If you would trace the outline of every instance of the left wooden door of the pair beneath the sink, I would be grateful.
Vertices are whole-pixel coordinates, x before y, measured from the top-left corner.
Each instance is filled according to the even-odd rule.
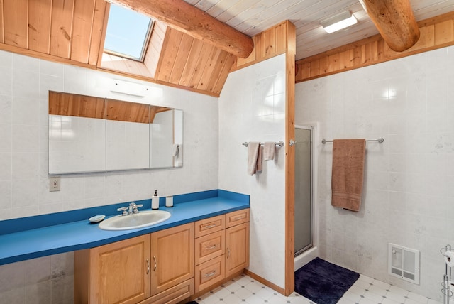
[[[150,234],[89,251],[89,302],[138,303],[150,296]]]

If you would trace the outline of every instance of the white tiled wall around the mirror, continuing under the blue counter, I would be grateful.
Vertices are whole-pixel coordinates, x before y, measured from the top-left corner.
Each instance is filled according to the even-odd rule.
[[[143,98],[109,92],[109,80],[150,86]],[[184,166],[62,175],[49,192],[48,91],[129,99],[184,112]],[[0,220],[218,188],[214,97],[0,51]],[[148,206],[150,207],[150,206]],[[72,303],[72,253],[0,266],[0,303]]]

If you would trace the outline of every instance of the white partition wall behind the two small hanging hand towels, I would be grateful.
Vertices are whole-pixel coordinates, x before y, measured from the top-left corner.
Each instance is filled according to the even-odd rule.
[[[245,141],[285,139],[285,56],[228,75],[219,97],[219,188],[250,195],[250,266],[285,286],[284,147],[262,173],[247,173]],[[186,160],[185,160],[186,162]]]

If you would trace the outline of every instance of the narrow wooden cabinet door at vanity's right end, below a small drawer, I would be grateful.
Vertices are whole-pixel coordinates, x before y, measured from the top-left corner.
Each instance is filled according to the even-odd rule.
[[[226,229],[226,277],[249,266],[249,222]]]

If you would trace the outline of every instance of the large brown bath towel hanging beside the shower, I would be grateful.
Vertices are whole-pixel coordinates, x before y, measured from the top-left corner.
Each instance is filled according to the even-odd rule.
[[[333,173],[331,205],[359,211],[364,175],[365,139],[333,141]]]

